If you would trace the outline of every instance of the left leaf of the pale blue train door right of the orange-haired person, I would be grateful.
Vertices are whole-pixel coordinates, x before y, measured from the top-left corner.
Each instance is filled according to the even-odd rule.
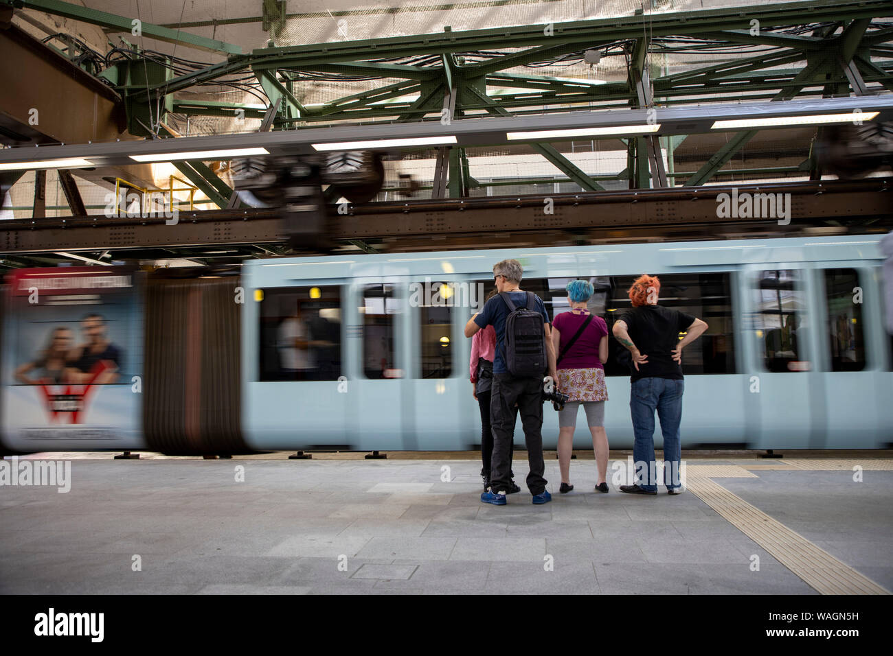
[[[823,448],[826,412],[816,366],[823,316],[812,272],[802,264],[763,264],[742,274],[747,394],[756,395],[759,407],[748,421],[757,436],[748,441],[765,449]]]

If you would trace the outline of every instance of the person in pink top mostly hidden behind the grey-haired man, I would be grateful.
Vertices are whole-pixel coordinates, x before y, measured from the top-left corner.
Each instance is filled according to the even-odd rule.
[[[486,303],[497,295],[496,289],[491,291]],[[472,380],[472,395],[478,402],[480,409],[480,477],[484,482],[484,491],[490,486],[490,461],[493,459],[493,427],[490,424],[490,393],[493,387],[493,353],[497,349],[497,333],[492,326],[479,330],[472,337],[472,358],[468,363],[470,378]],[[518,419],[518,405],[513,406],[514,417],[512,419],[512,431]],[[514,442],[514,436],[512,437]],[[514,449],[509,449],[509,477],[512,479],[507,492],[513,494],[521,492],[521,488],[514,482],[514,474],[511,471]]]

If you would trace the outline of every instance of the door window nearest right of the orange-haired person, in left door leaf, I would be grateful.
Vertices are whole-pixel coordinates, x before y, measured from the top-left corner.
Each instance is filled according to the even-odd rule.
[[[754,288],[752,329],[766,370],[808,371],[806,296],[799,270],[766,270]]]

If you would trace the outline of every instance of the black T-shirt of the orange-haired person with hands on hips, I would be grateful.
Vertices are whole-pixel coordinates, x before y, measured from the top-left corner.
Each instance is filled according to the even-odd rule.
[[[672,359],[672,350],[679,344],[679,334],[695,322],[685,312],[661,305],[640,305],[622,314],[632,343],[638,352],[648,356],[646,364],[636,366],[630,361],[630,377],[682,379],[682,368]]]

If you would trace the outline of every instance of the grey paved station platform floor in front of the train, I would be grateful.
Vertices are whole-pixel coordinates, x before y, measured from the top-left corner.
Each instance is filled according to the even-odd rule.
[[[71,490],[0,487],[2,594],[889,594],[893,458],[691,457],[686,491],[480,502],[480,457],[71,459]],[[21,459],[24,460],[24,459]],[[7,457],[6,461],[10,461]],[[21,461],[20,461],[21,462]],[[623,480],[622,482],[627,482]]]

